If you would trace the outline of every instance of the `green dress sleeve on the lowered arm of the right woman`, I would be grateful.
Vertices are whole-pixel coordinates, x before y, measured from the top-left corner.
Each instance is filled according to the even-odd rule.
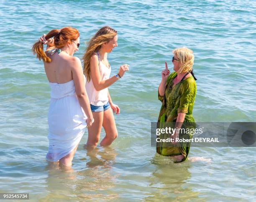
[[[192,83],[187,83],[182,86],[182,95],[179,100],[178,113],[187,113],[189,104],[195,99],[195,87]]]

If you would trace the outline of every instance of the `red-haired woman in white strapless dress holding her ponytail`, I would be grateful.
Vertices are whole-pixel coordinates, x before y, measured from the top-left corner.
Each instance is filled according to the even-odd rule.
[[[53,39],[52,39],[53,37]],[[93,123],[79,58],[79,32],[73,27],[51,30],[33,45],[33,53],[44,62],[51,87],[48,114],[49,151],[46,160],[71,166],[86,127]],[[43,44],[48,44],[44,52]]]

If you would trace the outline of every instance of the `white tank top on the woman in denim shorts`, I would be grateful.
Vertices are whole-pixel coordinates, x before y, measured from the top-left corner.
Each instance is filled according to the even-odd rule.
[[[107,80],[109,79],[111,67],[106,67],[101,61],[100,61],[100,55],[97,51],[98,59],[99,59],[99,70],[100,70],[100,78],[101,80]],[[103,106],[108,103],[108,88],[104,88],[100,91],[97,91],[93,85],[92,77],[90,79],[90,82],[85,82],[85,89],[90,101],[91,105],[95,106]]]

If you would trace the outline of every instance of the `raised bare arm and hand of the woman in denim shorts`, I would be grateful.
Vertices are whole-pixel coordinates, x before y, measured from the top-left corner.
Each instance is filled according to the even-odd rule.
[[[125,65],[122,65],[120,67],[119,73],[122,77],[125,71],[128,71],[128,67],[124,67]],[[99,70],[99,60],[97,55],[92,55],[90,60],[90,70],[91,70],[91,79],[92,83],[97,91],[100,91],[106,87],[109,87],[114,82],[118,80],[117,77],[113,76],[106,80],[101,80],[100,78],[100,70]]]

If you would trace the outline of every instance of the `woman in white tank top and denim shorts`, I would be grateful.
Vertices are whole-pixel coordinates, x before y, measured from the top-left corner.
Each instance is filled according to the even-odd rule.
[[[102,27],[92,37],[83,55],[85,88],[95,120],[88,128],[88,140],[85,146],[90,146],[90,148],[97,146],[102,126],[106,135],[100,142],[101,146],[110,145],[118,136],[113,112],[119,114],[120,108],[113,104],[108,87],[118,80],[121,82],[123,75],[129,70],[129,65],[122,65],[119,72],[110,77],[111,67],[108,62],[108,53],[118,46],[117,41],[117,31],[108,26]]]

